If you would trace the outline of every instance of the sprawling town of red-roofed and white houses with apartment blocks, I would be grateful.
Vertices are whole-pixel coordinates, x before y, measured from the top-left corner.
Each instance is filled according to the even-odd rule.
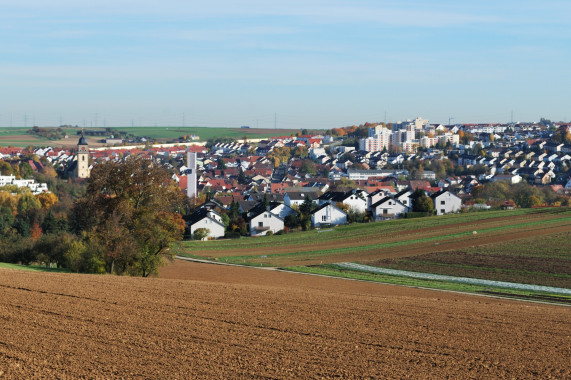
[[[0,147],[0,187],[49,192],[34,173],[89,177],[148,157],[190,198],[188,238],[262,236],[355,222],[569,204],[571,123],[430,124],[416,118],[267,139],[170,146],[78,130],[76,148]],[[35,127],[34,132],[42,132]],[[85,135],[123,146],[91,148]],[[111,136],[113,137],[113,136]],[[72,137],[71,137],[72,138]],[[144,142],[146,146],[129,146]],[[192,164],[190,163],[192,156]],[[12,170],[19,168],[19,170]],[[194,184],[194,185],[193,185]]]

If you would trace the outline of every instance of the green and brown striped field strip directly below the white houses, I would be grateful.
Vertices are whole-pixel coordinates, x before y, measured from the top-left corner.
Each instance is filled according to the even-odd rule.
[[[571,209],[520,209],[353,224],[256,239],[184,242],[182,252],[258,266],[373,262],[541,237],[571,228]]]

